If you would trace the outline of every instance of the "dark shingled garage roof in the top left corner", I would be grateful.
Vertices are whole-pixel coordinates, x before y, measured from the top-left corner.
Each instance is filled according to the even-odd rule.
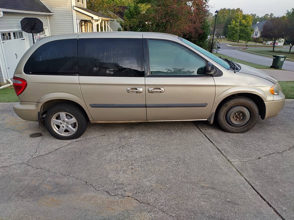
[[[0,9],[52,13],[40,0],[0,1]]]

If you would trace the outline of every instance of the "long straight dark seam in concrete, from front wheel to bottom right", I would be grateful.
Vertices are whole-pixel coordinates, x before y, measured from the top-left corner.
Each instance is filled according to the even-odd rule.
[[[240,172],[240,170],[238,170],[238,168],[237,167],[235,167],[235,165],[233,165],[233,163],[232,163],[232,161],[230,161],[228,158],[227,158],[227,156],[220,150],[220,148],[218,148],[217,146],[216,146],[216,144],[215,143],[213,143],[213,141],[198,127],[198,125],[196,124],[196,123],[194,123],[195,124],[195,126],[199,129],[199,131],[208,139],[208,141],[210,141],[210,143],[212,143],[213,144],[213,146],[225,157],[225,159],[226,160],[228,160],[228,162],[230,163],[230,165],[239,173],[239,175],[241,176],[241,177],[243,177],[244,178],[244,180],[250,185],[250,187],[259,195],[259,197],[261,198],[261,199],[263,199],[263,201],[265,201],[267,204],[268,204],[268,206],[271,208],[271,209],[273,209],[273,211],[281,218],[281,219],[283,219],[283,220],[285,220],[285,218],[278,212],[278,210],[277,209],[275,209],[275,207],[273,207],[273,205],[272,204],[270,204],[270,202],[267,200],[267,199],[265,199],[265,197],[263,197],[263,195],[262,194],[260,194],[260,192],[258,192],[258,190],[252,185],[252,183]]]

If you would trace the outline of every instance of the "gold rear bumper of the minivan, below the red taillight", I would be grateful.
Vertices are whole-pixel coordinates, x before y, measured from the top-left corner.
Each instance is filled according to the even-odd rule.
[[[26,121],[38,121],[38,111],[40,111],[42,103],[37,102],[19,102],[13,106],[14,112]]]

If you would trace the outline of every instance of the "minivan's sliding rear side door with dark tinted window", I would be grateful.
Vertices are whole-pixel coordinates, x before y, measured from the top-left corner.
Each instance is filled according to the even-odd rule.
[[[78,40],[81,92],[94,121],[146,121],[143,39]]]

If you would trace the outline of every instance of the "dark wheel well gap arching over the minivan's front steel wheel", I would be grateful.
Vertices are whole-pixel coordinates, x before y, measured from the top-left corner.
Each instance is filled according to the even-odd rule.
[[[220,102],[220,104],[218,104],[218,107],[216,108],[216,112],[218,112],[218,109],[223,104],[223,102],[227,101],[228,99],[230,99],[232,97],[246,97],[248,99],[251,99],[252,101],[254,101],[254,103],[258,107],[258,111],[259,111],[259,115],[260,115],[261,119],[264,119],[265,118],[265,111],[266,111],[266,109],[265,109],[265,104],[264,104],[263,99],[260,96],[258,96],[256,94],[252,94],[252,93],[237,93],[237,94],[233,94],[233,95],[230,95],[228,97],[225,97]]]

